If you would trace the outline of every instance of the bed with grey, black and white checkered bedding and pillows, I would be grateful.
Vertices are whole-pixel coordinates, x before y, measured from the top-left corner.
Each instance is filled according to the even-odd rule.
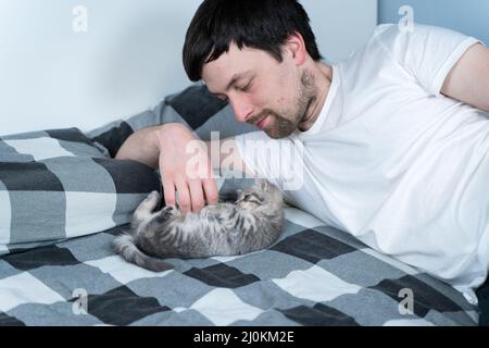
[[[478,324],[478,308],[449,285],[290,206],[267,250],[170,259],[163,273],[123,261],[111,241],[161,184],[158,172],[113,157],[134,132],[172,122],[202,139],[255,130],[195,85],[91,132],[0,138],[0,325]],[[240,185],[224,178],[221,194]]]

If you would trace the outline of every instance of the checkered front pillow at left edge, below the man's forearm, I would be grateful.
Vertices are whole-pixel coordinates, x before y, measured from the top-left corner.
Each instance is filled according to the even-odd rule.
[[[0,251],[130,222],[160,178],[104,152],[77,128],[0,138]]]

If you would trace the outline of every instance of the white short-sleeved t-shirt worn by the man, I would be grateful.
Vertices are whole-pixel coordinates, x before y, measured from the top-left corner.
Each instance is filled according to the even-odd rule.
[[[289,203],[477,303],[473,289],[489,265],[489,120],[440,94],[476,42],[439,27],[379,25],[333,66],[310,130],[238,136],[239,152]]]

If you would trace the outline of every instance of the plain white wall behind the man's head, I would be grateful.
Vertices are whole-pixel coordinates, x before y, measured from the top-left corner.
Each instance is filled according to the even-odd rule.
[[[185,33],[200,0],[0,0],[0,135],[89,130],[189,85]],[[376,24],[376,0],[303,0],[335,62]],[[87,9],[87,32],[76,33]],[[83,23],[82,23],[83,24]],[[79,28],[79,26],[78,26]]]

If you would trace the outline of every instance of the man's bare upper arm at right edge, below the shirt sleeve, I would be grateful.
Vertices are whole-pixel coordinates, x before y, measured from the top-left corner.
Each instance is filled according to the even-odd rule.
[[[489,112],[489,48],[472,46],[451,70],[441,92]]]

